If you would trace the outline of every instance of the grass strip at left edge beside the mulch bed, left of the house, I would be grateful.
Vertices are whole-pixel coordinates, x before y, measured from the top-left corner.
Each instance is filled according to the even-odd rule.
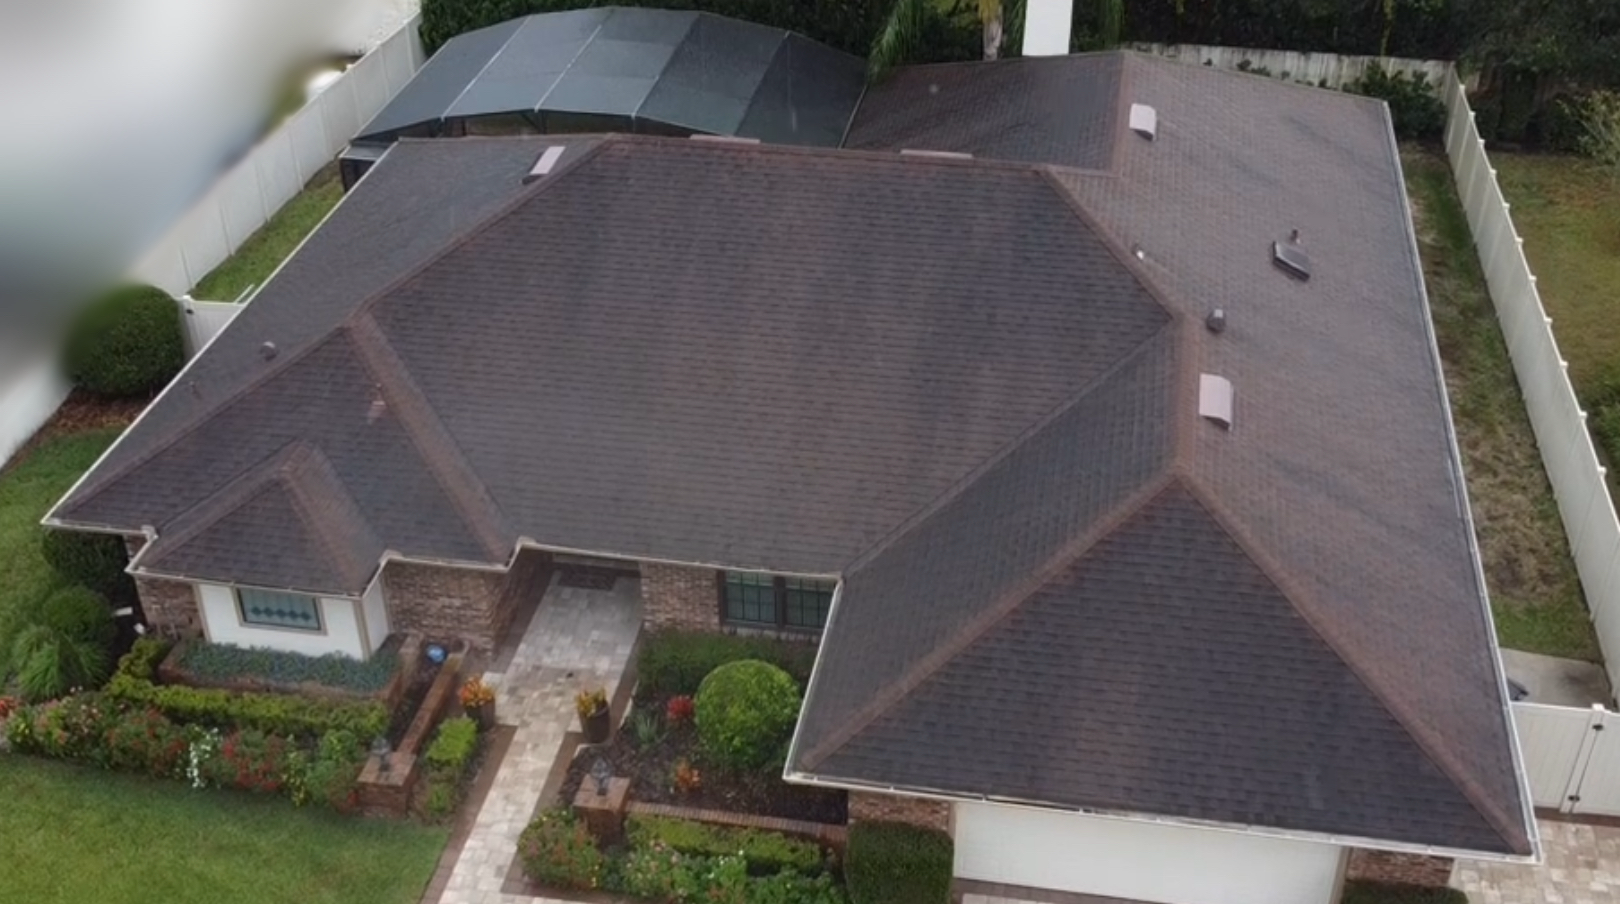
[[[39,554],[39,518],[120,433],[96,429],[50,439],[0,475],[0,609],[57,586],[60,578]]]

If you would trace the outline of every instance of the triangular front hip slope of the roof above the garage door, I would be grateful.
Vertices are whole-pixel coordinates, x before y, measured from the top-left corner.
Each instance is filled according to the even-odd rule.
[[[1520,852],[1181,480],[813,771]]]

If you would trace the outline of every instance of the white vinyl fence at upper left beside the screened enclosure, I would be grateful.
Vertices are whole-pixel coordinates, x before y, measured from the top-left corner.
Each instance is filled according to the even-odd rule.
[[[420,21],[400,26],[254,146],[157,240],[131,279],[178,296],[237,251],[416,75]]]

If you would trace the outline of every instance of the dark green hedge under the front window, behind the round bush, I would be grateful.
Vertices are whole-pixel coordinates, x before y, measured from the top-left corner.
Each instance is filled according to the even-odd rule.
[[[766,637],[659,632],[642,643],[635,661],[637,698],[642,701],[693,695],[710,672],[726,663],[760,659],[804,687],[815,664],[815,645]]]

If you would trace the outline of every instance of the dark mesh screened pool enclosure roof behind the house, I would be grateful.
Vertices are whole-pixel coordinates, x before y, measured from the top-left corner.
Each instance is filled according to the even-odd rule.
[[[544,13],[452,39],[356,141],[522,113],[567,115],[598,130],[831,147],[860,100],[863,71],[859,57],[710,13],[620,6]]]

